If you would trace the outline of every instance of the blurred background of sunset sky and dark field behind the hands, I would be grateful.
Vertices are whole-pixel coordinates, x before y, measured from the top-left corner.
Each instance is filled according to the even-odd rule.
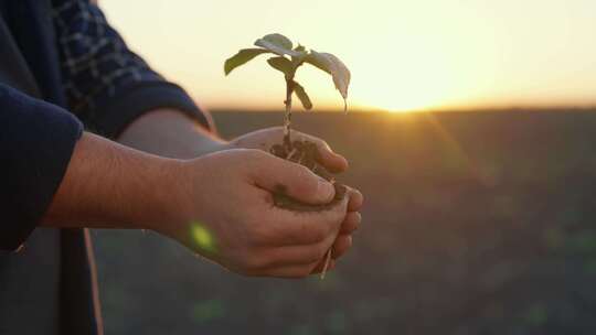
[[[596,3],[100,0],[132,50],[232,138],[279,126],[284,80],[223,62],[267,33],[352,71],[343,115],[301,68],[366,202],[324,280],[231,274],[151,233],[95,230],[107,334],[596,332]]]

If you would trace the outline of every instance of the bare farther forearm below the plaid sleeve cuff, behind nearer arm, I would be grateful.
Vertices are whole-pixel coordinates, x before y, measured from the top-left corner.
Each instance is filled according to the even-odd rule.
[[[193,159],[222,150],[225,141],[190,117],[171,109],[157,109],[135,120],[118,142],[166,158]]]

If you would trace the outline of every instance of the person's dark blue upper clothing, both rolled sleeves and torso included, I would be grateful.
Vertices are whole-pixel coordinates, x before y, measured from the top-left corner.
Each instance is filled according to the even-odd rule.
[[[88,231],[36,228],[76,141],[160,107],[210,120],[88,1],[0,0],[0,334],[98,334]]]

